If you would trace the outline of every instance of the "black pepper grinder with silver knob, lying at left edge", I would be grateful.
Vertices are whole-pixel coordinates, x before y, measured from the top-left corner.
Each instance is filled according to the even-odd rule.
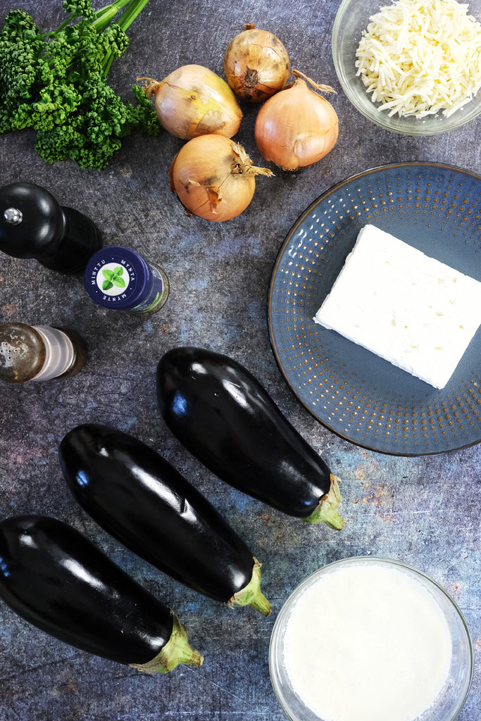
[[[15,258],[36,258],[58,273],[83,273],[102,247],[100,231],[83,213],[58,204],[31,182],[0,188],[0,250]]]

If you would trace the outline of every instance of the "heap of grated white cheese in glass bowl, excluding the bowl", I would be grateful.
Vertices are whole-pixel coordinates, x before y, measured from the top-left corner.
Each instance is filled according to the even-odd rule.
[[[397,0],[370,18],[356,75],[378,110],[449,117],[481,88],[481,25],[456,0]]]

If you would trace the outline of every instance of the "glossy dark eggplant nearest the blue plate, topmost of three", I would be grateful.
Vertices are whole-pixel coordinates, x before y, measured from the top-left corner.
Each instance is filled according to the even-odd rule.
[[[240,363],[173,348],[156,390],[169,429],[219,478],[290,516],[343,528],[339,479]]]

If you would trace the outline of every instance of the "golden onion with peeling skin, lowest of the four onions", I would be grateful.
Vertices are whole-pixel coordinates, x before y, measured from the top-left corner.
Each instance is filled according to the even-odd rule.
[[[189,214],[228,221],[249,205],[259,174],[273,173],[252,165],[239,143],[220,135],[199,136],[185,143],[172,161],[170,189]]]

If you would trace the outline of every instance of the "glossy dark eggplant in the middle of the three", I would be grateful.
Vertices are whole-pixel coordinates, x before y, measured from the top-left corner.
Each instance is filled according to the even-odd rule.
[[[206,497],[152,448],[90,423],[66,434],[58,457],[77,502],[125,547],[204,596],[270,614],[260,563]]]

